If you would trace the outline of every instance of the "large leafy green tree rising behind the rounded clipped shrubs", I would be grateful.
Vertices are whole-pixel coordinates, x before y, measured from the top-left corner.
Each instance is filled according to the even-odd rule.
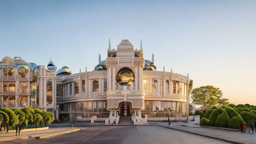
[[[201,86],[191,91],[192,104],[202,105],[206,110],[221,102],[221,97],[221,90],[213,86]]]

